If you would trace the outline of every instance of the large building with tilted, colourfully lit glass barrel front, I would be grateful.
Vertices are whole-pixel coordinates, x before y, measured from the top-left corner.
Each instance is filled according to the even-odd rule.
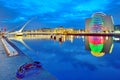
[[[97,12],[86,19],[85,30],[87,32],[114,31],[113,24],[112,16]]]

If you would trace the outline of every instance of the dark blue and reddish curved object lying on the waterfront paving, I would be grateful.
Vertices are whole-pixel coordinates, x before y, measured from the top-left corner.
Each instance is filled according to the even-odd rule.
[[[26,63],[26,64],[20,66],[20,68],[17,70],[16,77],[19,79],[22,79],[25,77],[26,73],[29,73],[30,71],[35,73],[36,71],[38,71],[41,68],[42,68],[42,66],[41,66],[40,62],[34,61],[31,63]]]

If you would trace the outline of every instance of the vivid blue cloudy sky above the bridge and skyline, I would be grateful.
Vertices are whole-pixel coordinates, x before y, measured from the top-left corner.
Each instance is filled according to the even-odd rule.
[[[0,0],[0,27],[20,28],[32,19],[27,28],[65,26],[84,29],[85,18],[95,12],[112,15],[120,24],[119,0]]]

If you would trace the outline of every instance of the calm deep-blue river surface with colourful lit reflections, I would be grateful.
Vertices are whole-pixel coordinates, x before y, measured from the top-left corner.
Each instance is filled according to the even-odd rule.
[[[120,43],[110,37],[42,36],[11,40],[58,80],[120,80]],[[95,48],[96,45],[101,48]],[[90,50],[100,49],[105,52],[101,57],[91,54]]]

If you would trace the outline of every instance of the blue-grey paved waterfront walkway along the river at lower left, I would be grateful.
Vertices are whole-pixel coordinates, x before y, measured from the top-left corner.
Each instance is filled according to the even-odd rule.
[[[27,76],[23,79],[16,78],[17,69],[32,59],[19,53],[17,56],[7,56],[0,37],[0,80],[56,80],[49,72],[44,69],[37,74]]]

